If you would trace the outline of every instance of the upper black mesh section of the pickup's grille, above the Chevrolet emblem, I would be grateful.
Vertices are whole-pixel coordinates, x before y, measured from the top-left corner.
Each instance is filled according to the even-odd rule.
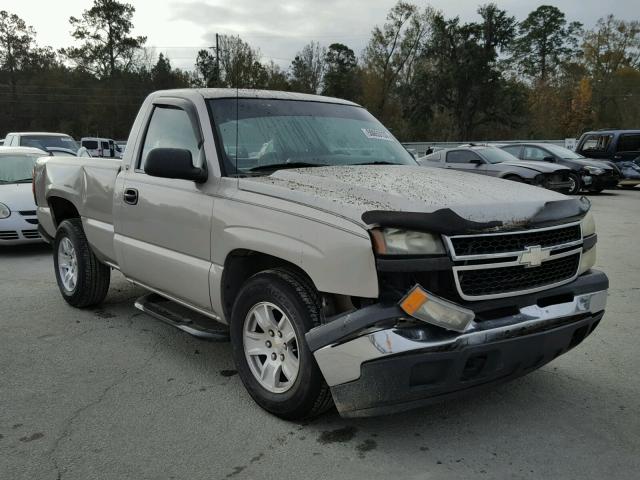
[[[580,225],[524,233],[452,237],[457,257],[519,252],[528,246],[551,247],[582,240]]]

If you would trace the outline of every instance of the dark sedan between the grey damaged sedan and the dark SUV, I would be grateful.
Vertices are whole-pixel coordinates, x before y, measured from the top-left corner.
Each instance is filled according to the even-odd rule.
[[[547,162],[571,169],[571,195],[576,195],[581,190],[601,192],[616,188],[620,180],[618,169],[607,162],[585,158],[568,148],[552,143],[517,143],[503,145],[500,148],[527,162]]]

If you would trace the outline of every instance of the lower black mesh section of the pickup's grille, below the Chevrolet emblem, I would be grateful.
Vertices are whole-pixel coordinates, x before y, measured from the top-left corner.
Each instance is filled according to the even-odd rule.
[[[531,290],[570,280],[580,264],[580,254],[544,262],[540,267],[513,266],[465,270],[458,275],[460,289],[467,297]]]

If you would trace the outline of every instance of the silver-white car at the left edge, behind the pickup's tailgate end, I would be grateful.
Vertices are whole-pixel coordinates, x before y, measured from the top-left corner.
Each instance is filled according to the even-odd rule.
[[[0,147],[0,246],[42,241],[31,188],[42,156],[37,148]]]

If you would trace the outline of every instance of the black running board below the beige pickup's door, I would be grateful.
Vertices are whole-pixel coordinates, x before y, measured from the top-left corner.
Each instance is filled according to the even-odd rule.
[[[195,337],[217,341],[229,340],[229,329],[226,325],[156,293],[138,298],[135,307]]]

